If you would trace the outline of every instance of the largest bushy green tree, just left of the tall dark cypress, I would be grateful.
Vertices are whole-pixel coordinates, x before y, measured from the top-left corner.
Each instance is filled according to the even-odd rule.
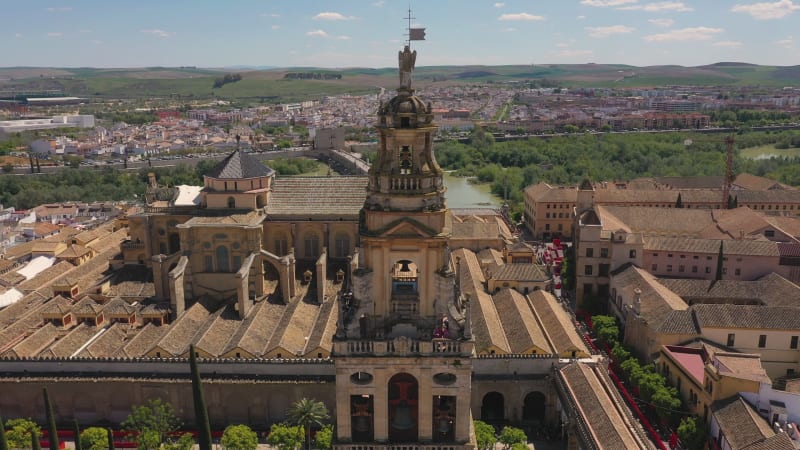
[[[144,405],[134,406],[128,418],[122,422],[125,430],[138,433],[136,441],[140,446],[147,444],[145,448],[165,443],[167,434],[180,426],[181,421],[175,415],[175,409],[161,399],[150,399]]]

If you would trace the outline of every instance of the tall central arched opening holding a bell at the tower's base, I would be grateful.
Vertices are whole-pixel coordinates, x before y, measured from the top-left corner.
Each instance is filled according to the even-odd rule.
[[[389,440],[414,442],[419,429],[419,384],[413,375],[398,373],[389,379]]]

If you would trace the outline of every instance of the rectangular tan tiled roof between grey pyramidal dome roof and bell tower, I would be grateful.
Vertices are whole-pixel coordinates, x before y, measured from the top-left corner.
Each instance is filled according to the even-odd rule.
[[[267,218],[336,216],[357,218],[366,198],[367,177],[278,177]]]

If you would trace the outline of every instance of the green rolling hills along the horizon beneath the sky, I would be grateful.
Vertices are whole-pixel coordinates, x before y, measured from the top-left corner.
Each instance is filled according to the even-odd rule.
[[[0,68],[0,90],[58,89],[96,98],[157,96],[292,101],[343,93],[364,94],[397,85],[397,69],[321,69],[292,67],[241,71],[242,80],[212,88],[221,69],[195,67]],[[297,73],[335,73],[336,77],[298,77]],[[564,87],[650,87],[681,85],[800,86],[800,66],[759,66],[742,62],[636,67],[621,64],[542,64],[505,66],[424,66],[414,74],[418,86],[477,82],[546,81]]]

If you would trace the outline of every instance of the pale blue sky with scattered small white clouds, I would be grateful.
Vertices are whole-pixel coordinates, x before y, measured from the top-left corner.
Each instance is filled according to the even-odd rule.
[[[0,66],[397,64],[407,0],[1,0]],[[800,0],[424,0],[418,66],[800,64]]]

